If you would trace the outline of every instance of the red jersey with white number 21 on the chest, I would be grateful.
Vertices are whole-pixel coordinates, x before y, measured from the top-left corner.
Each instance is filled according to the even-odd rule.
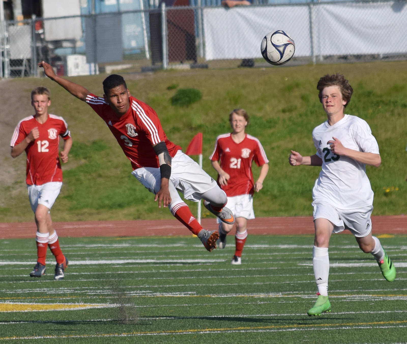
[[[232,139],[232,134],[219,135],[216,139],[215,149],[210,156],[212,161],[221,161],[223,171],[229,174],[228,185],[218,185],[229,197],[254,194],[254,179],[252,173],[252,161],[257,166],[268,163],[266,153],[260,141],[251,135],[237,144]]]

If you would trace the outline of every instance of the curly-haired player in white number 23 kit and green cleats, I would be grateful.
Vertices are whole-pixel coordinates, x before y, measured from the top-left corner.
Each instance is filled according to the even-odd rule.
[[[325,75],[317,84],[319,101],[328,120],[317,126],[312,137],[317,152],[302,157],[291,150],[292,166],[322,166],[313,188],[315,240],[313,266],[318,298],[308,311],[309,316],[329,312],[328,245],[332,233],[348,229],[361,250],[371,253],[389,282],[396,278],[396,268],[372,236],[370,214],[373,210],[373,191],[365,165],[379,167],[379,146],[369,125],[359,117],[345,115],[353,89],[341,74]]]

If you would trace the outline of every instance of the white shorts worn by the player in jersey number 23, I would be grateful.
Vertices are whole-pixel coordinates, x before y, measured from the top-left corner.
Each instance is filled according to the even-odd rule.
[[[314,221],[324,218],[333,223],[333,233],[340,233],[345,229],[355,237],[365,237],[372,231],[372,221],[370,215],[373,206],[354,210],[342,210],[326,203],[312,203],[314,207]]]

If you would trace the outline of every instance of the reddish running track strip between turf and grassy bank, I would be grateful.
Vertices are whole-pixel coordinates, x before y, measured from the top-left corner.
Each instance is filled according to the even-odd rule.
[[[214,219],[202,219],[205,229],[217,229]],[[177,220],[54,222],[60,237],[133,237],[150,235],[190,235]],[[249,234],[313,234],[309,217],[256,218],[247,224]],[[373,234],[407,234],[407,216],[372,216]],[[34,222],[0,223],[0,239],[34,238]],[[234,231],[232,231],[234,233]],[[343,233],[349,233],[344,231]]]

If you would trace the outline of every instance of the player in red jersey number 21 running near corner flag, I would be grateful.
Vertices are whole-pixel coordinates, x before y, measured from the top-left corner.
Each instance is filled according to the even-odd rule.
[[[218,184],[228,196],[228,207],[236,219],[236,251],[232,264],[241,264],[243,246],[247,237],[247,220],[254,219],[253,194],[263,188],[269,170],[269,161],[260,141],[245,133],[249,117],[245,110],[234,109],[229,115],[233,132],[219,135],[210,156],[218,172]],[[252,161],[261,166],[260,176],[254,183]],[[221,161],[220,165],[218,161]],[[226,235],[233,225],[219,223],[219,247],[226,245]]]

